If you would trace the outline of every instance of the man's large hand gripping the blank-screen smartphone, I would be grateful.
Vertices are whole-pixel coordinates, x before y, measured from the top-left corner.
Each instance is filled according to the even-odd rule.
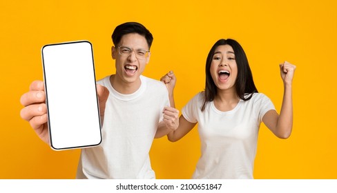
[[[103,124],[104,110],[109,92],[104,86],[97,85],[97,94],[99,96],[99,113]],[[20,112],[21,118],[29,121],[30,126],[35,130],[39,138],[49,144],[44,82],[33,81],[30,84],[30,90],[21,96],[20,102],[24,106]]]

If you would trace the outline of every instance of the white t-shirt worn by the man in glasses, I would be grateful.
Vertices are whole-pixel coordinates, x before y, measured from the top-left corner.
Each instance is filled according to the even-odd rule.
[[[78,179],[155,179],[148,155],[162,110],[169,106],[165,85],[141,76],[133,94],[120,94],[110,76],[97,83],[110,91],[104,114],[102,143],[81,150]]]

